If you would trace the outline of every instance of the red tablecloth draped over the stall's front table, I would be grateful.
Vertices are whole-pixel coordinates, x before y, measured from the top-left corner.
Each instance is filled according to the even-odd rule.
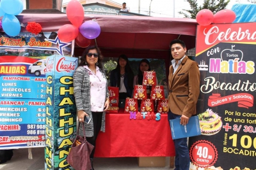
[[[130,120],[129,113],[106,113],[106,132],[97,138],[95,157],[175,156],[167,114],[161,120]]]

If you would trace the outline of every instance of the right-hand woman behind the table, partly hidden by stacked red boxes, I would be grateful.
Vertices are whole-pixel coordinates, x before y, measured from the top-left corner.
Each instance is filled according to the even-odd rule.
[[[139,69],[138,69],[138,75],[134,76],[134,80],[133,80],[133,87],[134,85],[142,85],[142,81],[143,81],[143,75],[145,71],[150,71],[151,67],[149,64],[149,61],[147,59],[142,59],[140,60],[140,64],[139,64]],[[156,85],[157,85],[157,79],[156,79]],[[147,86],[147,98],[150,98],[150,93],[151,93],[151,87]]]

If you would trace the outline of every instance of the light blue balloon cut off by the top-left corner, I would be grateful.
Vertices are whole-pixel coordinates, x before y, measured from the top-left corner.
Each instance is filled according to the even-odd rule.
[[[1,0],[2,10],[10,15],[19,13],[21,6],[23,6],[21,0]]]

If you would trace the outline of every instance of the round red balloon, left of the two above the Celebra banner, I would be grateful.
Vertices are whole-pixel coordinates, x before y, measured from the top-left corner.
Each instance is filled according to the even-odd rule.
[[[210,25],[212,23],[212,20],[213,20],[213,13],[210,10],[207,10],[207,9],[200,10],[196,14],[196,22],[199,25],[202,25],[202,26]]]

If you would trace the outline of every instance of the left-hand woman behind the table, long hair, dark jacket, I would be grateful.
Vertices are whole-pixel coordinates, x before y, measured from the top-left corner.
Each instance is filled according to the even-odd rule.
[[[117,66],[110,73],[110,86],[119,87],[119,108],[124,108],[126,97],[132,97],[132,80],[134,74],[128,58],[122,54],[118,57]]]

